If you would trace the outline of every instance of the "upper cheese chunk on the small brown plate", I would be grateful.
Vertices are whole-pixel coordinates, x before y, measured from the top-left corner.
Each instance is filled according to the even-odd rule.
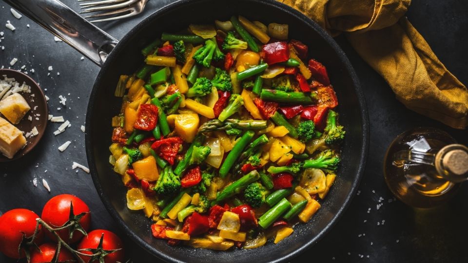
[[[31,110],[26,100],[18,93],[9,95],[0,101],[0,113],[11,123],[18,124],[24,115]]]

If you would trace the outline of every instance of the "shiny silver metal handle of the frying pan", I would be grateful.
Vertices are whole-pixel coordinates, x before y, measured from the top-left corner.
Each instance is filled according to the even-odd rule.
[[[118,42],[116,38],[86,21],[59,0],[4,1],[100,67]]]

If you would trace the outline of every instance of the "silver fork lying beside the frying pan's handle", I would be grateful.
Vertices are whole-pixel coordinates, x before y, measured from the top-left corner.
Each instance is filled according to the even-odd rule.
[[[81,1],[89,1],[89,0],[78,0],[78,1],[81,2]],[[92,19],[92,18],[112,16],[110,18],[92,20],[90,21],[92,23],[124,19],[124,18],[136,16],[140,14],[141,12],[143,12],[145,5],[148,1],[149,0],[98,0],[98,1],[93,1],[93,2],[80,3],[81,8],[84,9],[80,13],[84,14],[84,13],[117,9],[117,10],[113,10],[113,11],[109,11],[105,13],[98,13],[95,15],[86,16],[84,18]],[[118,16],[114,16],[114,15],[118,15]]]

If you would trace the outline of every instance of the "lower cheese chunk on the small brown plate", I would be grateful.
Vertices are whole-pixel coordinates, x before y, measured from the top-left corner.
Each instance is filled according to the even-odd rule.
[[[13,158],[15,153],[26,144],[23,133],[0,117],[0,151],[8,158]]]

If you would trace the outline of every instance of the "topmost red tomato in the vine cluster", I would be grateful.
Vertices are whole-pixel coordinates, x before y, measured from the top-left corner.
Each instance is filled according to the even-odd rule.
[[[83,202],[83,200],[71,194],[60,194],[52,197],[49,201],[47,201],[47,203],[44,205],[44,208],[42,208],[42,220],[44,220],[45,223],[52,227],[64,225],[67,223],[70,216],[70,203],[73,203],[74,215],[88,212],[79,220],[81,227],[83,227],[85,231],[88,231],[89,226],[91,225],[91,214],[89,213],[89,207]],[[66,243],[76,243],[81,238],[83,238],[82,233],[75,231],[73,232],[73,238],[70,241],[69,232],[70,231],[68,229],[62,229],[58,232],[60,238]],[[46,234],[52,240],[57,242],[56,237],[52,233],[46,231]]]

